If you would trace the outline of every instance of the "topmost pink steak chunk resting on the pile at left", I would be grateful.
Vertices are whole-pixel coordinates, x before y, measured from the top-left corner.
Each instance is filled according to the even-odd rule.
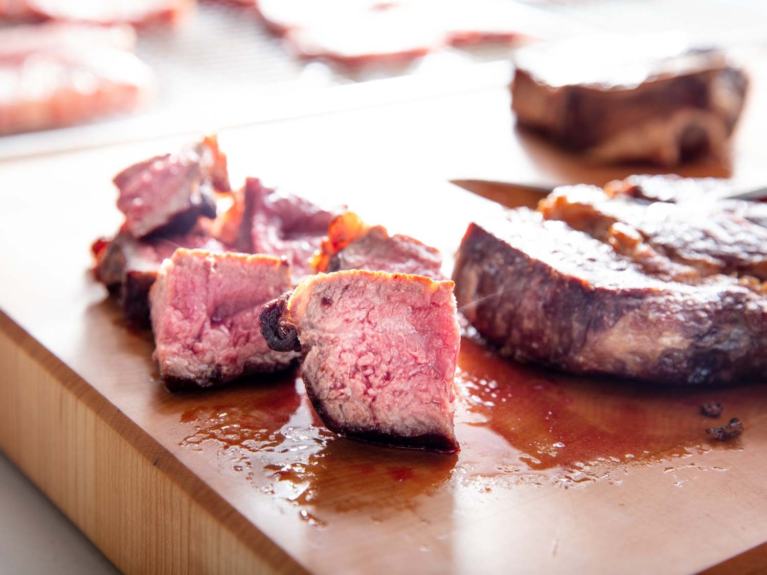
[[[137,238],[183,233],[199,216],[216,217],[216,189],[229,189],[225,156],[215,137],[185,146],[179,153],[154,156],[114,176],[117,207],[125,214],[123,232]]]

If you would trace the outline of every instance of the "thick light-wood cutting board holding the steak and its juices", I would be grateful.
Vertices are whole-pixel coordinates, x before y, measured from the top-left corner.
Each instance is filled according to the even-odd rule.
[[[630,171],[549,169],[571,160],[515,133],[508,104],[505,90],[479,90],[227,130],[221,145],[234,182],[262,176],[345,202],[449,259],[469,220],[499,206],[448,177],[508,169],[522,181],[600,181]],[[749,133],[759,130],[743,126]],[[767,385],[575,378],[465,339],[456,455],[337,439],[295,376],[166,392],[150,333],[123,326],[87,268],[91,241],[120,223],[111,176],[184,140],[0,164],[0,446],[121,570],[767,565]],[[690,170],[747,179],[749,166],[765,165],[759,147],[736,154],[733,166]],[[724,404],[721,419],[700,415],[709,400]],[[746,425],[741,438],[707,439],[706,427],[732,416]]]

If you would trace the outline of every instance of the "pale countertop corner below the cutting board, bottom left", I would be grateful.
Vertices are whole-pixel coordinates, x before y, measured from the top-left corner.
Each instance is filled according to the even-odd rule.
[[[0,572],[119,573],[0,451]]]

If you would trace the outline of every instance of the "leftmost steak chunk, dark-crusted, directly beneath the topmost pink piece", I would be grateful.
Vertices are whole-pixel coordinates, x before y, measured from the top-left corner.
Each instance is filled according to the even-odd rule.
[[[205,235],[153,236],[136,239],[118,234],[94,244],[96,279],[107,286],[123,307],[126,320],[137,327],[149,325],[149,290],[165,258],[176,248],[225,251],[221,242]]]

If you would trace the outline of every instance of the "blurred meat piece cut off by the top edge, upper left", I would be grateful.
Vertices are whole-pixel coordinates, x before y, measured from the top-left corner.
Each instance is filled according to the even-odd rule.
[[[193,0],[25,0],[43,18],[92,24],[173,25],[193,7]]]

